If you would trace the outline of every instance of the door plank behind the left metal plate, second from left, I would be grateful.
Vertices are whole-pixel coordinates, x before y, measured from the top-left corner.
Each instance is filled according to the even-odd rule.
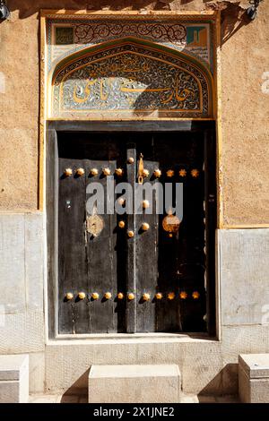
[[[114,174],[116,167],[115,159],[87,160],[86,174],[91,173],[91,168],[97,168],[100,175],[97,177],[88,176],[87,186],[91,185],[91,183],[98,183],[102,186],[104,197],[106,198],[108,194],[107,177],[102,176],[102,168],[110,168],[111,174]],[[88,194],[86,194],[86,199],[88,199]],[[115,214],[108,214],[106,209],[103,214],[99,215],[99,218],[100,223],[103,224],[100,234],[95,236],[91,232],[86,232],[88,290],[92,293],[97,293],[100,297],[99,299],[90,298],[89,331],[92,333],[117,331],[116,303],[104,297],[106,292],[110,292],[112,296],[117,295],[117,251],[116,236],[113,234],[117,225],[117,218]],[[90,221],[91,215],[86,210],[87,219]],[[93,223],[95,224],[95,222]],[[94,231],[94,227],[91,229]]]

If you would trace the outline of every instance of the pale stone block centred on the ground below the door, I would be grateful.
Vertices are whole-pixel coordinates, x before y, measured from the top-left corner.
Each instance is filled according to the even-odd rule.
[[[89,403],[177,403],[178,365],[91,365]]]

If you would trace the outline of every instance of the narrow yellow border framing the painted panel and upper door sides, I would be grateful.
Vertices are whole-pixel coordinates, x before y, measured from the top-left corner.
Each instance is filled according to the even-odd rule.
[[[143,120],[214,120],[216,124],[216,136],[217,136],[217,184],[219,185],[217,189],[217,202],[218,202],[218,227],[222,228],[223,225],[223,210],[222,210],[222,194],[221,194],[221,67],[220,67],[220,53],[221,53],[221,14],[219,11],[203,11],[203,12],[190,12],[190,11],[84,11],[84,10],[41,10],[40,11],[40,111],[39,111],[39,210],[44,209],[44,198],[45,198],[45,183],[44,183],[44,168],[45,168],[45,142],[47,136],[47,124],[49,121],[54,120],[63,120],[61,117],[54,117],[48,114],[48,103],[51,95],[51,81],[52,74],[57,71],[60,66],[60,63],[65,63],[65,55],[62,56],[62,59],[58,63],[51,63],[54,66],[52,69],[51,65],[48,65],[49,62],[49,53],[48,53],[48,43],[49,43],[49,34],[48,34],[48,21],[57,20],[57,21],[94,21],[94,20],[114,20],[114,19],[124,19],[129,20],[144,20],[145,18],[154,19],[157,21],[171,21],[171,22],[211,22],[212,28],[212,63],[209,68],[206,68],[204,65],[204,73],[210,72],[209,81],[213,85],[212,91],[212,116],[210,118],[205,118],[199,116],[196,118],[193,117],[158,117],[154,118],[152,116],[143,116],[137,119]],[[79,53],[77,48],[77,52]],[[75,51],[74,51],[75,55]],[[68,54],[69,56],[69,54]],[[184,58],[184,53],[181,52],[181,57]],[[188,56],[188,60],[192,60],[193,56]],[[197,60],[196,65],[201,68],[201,65]],[[201,61],[203,66],[203,63]],[[207,74],[208,75],[208,74]],[[83,120],[84,118],[77,118]],[[65,120],[74,120],[74,116],[65,117]],[[94,117],[94,120],[99,120]],[[100,121],[100,120],[99,120]]]

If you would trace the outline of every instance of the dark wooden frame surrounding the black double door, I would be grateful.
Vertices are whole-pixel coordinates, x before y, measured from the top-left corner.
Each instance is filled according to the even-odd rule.
[[[216,124],[215,121],[196,120],[159,120],[159,121],[64,121],[52,120],[47,122],[46,142],[46,214],[47,214],[47,260],[48,260],[48,338],[63,339],[66,335],[58,333],[58,132],[203,132],[204,133],[204,165],[205,165],[205,233],[206,233],[206,308],[207,308],[207,334],[215,337],[217,326],[217,288],[216,288],[216,259],[215,259],[215,230],[217,228],[216,212]],[[211,226],[209,228],[209,225]],[[184,333],[186,335],[186,332]],[[126,334],[114,333],[121,337]],[[143,335],[147,335],[146,333]],[[182,335],[178,332],[176,335]],[[191,333],[195,336],[194,333]],[[198,334],[199,336],[201,333]],[[72,339],[82,337],[93,338],[95,334],[67,335]],[[108,334],[106,335],[108,336]],[[111,336],[111,335],[110,335]],[[141,336],[141,334],[140,334]],[[154,333],[155,337],[163,336]],[[175,333],[173,334],[173,337]],[[103,337],[103,335],[102,335]]]

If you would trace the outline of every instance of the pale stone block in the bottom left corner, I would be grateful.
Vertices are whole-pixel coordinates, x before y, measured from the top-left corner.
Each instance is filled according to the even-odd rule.
[[[0,403],[26,403],[28,399],[28,355],[0,356]]]

